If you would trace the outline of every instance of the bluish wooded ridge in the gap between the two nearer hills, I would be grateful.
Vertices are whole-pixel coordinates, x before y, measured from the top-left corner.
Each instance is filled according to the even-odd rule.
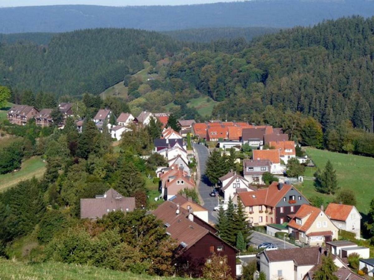
[[[239,37],[251,41],[255,37],[278,31],[279,28],[271,27],[217,27],[164,31],[163,34],[181,41],[209,43],[220,39]]]

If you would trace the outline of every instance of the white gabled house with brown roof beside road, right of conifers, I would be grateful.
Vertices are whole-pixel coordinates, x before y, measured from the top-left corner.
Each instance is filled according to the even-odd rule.
[[[229,202],[230,197],[233,198],[239,192],[252,192],[255,189],[249,186],[249,182],[236,171],[230,171],[226,175],[218,178],[220,192],[223,193],[224,203]]]

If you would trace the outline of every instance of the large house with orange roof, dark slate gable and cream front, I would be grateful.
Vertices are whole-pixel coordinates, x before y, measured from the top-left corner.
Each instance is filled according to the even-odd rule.
[[[239,198],[239,199],[238,199]],[[289,215],[309,204],[309,201],[292,185],[273,182],[266,189],[238,192],[234,203],[243,203],[249,224],[283,224]]]

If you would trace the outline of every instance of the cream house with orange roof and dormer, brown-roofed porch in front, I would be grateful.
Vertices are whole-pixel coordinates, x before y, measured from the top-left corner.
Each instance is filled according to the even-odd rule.
[[[316,246],[338,239],[339,229],[323,209],[304,204],[290,217],[288,233],[301,243]]]

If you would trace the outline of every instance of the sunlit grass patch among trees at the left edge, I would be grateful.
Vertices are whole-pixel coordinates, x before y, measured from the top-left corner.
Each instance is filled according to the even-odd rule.
[[[16,185],[19,181],[43,176],[46,167],[40,156],[22,162],[21,170],[0,175],[0,192]]]

